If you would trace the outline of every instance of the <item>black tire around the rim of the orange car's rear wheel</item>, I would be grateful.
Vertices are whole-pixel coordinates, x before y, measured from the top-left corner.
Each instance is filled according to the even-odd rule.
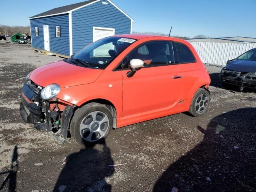
[[[208,97],[208,101],[207,101],[207,105],[206,106],[204,105],[204,102],[203,102],[203,105],[205,106],[205,109],[204,109],[204,111],[202,113],[199,114],[198,112],[196,112],[196,103],[198,102],[198,97],[200,95],[206,95]],[[199,117],[199,116],[203,115],[207,111],[207,109],[209,107],[209,102],[210,102],[210,94],[209,94],[209,92],[207,90],[203,89],[203,88],[200,88],[194,94],[194,97],[192,99],[192,102],[191,102],[191,105],[190,105],[190,108],[189,108],[188,112],[192,116],[194,116],[194,117]]]

